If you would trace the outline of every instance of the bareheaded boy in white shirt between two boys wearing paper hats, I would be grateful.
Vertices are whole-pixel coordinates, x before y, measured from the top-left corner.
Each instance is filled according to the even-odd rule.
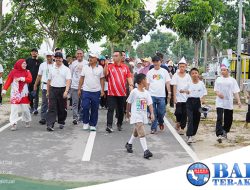
[[[194,143],[194,136],[198,130],[200,123],[201,113],[199,109],[201,108],[201,103],[204,103],[204,96],[207,95],[207,89],[202,81],[199,79],[199,70],[197,68],[192,68],[190,70],[190,75],[192,81],[189,83],[187,88],[187,143]]]

